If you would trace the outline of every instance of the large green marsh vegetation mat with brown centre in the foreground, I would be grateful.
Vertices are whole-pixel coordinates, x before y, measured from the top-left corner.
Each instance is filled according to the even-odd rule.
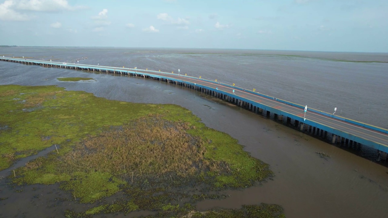
[[[138,210],[157,211],[153,217],[285,217],[274,204],[196,211],[197,201],[226,198],[223,190],[263,182],[272,171],[183,107],[18,85],[0,86],[0,106],[0,170],[58,145],[8,179],[11,187],[59,183],[68,200],[93,204],[66,217]],[[106,202],[109,196],[116,201]]]

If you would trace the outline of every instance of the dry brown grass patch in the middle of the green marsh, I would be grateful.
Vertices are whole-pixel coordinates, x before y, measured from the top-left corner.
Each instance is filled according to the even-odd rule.
[[[204,158],[204,142],[187,134],[189,128],[187,123],[171,123],[154,116],[140,118],[79,143],[62,161],[72,171],[127,176],[134,171],[136,177],[152,178],[227,170],[225,164]]]

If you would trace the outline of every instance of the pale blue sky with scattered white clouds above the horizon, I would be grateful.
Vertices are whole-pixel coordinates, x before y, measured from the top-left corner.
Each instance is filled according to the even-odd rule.
[[[388,0],[0,0],[0,45],[388,52],[387,39]]]

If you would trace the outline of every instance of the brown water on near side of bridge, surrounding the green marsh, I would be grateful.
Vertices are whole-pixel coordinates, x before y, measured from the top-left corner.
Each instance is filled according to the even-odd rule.
[[[69,83],[56,80],[57,77],[87,76],[97,81]],[[239,107],[205,99],[194,90],[143,78],[87,74],[7,62],[0,62],[0,79],[0,84],[59,85],[114,100],[174,102],[191,110],[210,128],[239,140],[246,151],[270,164],[275,173],[273,180],[262,185],[229,191],[231,197],[227,199],[199,202],[198,209],[239,208],[242,204],[265,202],[282,205],[287,217],[291,218],[388,217],[388,168],[385,166]],[[321,158],[316,151],[331,157]],[[0,197],[9,199],[0,201],[0,217],[62,216],[65,209],[81,211],[89,207],[71,201],[55,201],[59,194],[71,197],[57,190],[56,185],[37,186],[37,190],[32,190],[34,186],[19,187],[17,189],[24,191],[14,193],[5,186],[5,180],[1,183]],[[42,197],[37,199],[34,194]]]

